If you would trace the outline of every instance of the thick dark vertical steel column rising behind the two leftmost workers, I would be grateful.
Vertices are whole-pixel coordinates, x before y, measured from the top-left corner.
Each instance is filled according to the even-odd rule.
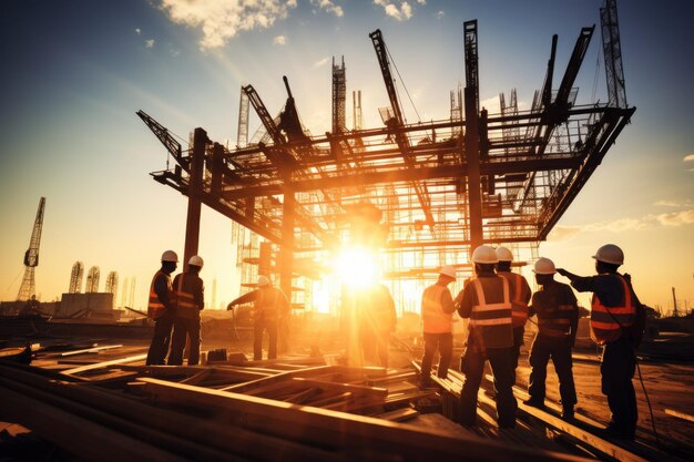
[[[188,260],[197,255],[200,243],[200,212],[203,193],[203,174],[205,168],[205,144],[207,132],[195,129],[193,135],[193,154],[191,155],[191,176],[188,178],[188,212],[185,222],[185,249],[183,251],[183,269],[188,269]]]

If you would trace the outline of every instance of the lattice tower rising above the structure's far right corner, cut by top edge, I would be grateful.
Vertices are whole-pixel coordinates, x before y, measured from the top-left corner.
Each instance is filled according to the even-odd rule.
[[[626,107],[626,88],[624,86],[624,68],[622,66],[622,44],[620,43],[620,24],[616,19],[616,0],[605,0],[600,9],[602,25],[602,50],[605,58],[608,76],[608,101],[613,107]]]

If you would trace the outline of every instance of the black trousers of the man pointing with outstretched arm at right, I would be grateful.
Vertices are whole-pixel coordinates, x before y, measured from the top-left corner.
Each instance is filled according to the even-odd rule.
[[[610,428],[627,438],[634,437],[639,420],[636,393],[632,383],[635,369],[636,356],[626,339],[620,338],[605,346],[600,372],[602,392],[608,396],[612,411]]]

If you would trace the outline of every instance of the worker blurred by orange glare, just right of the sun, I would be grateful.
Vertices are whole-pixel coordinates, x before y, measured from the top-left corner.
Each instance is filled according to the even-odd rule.
[[[364,290],[357,299],[364,359],[371,365],[387,368],[390,333],[395,331],[397,324],[390,290],[382,284],[375,284]]]

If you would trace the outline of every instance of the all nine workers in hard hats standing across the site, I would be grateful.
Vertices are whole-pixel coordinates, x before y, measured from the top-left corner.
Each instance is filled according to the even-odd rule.
[[[474,425],[477,394],[484,363],[490,362],[496,389],[497,414],[500,428],[516,425],[517,401],[513,396],[516,369],[523,345],[524,326],[529,317],[537,317],[538,335],[530,350],[530,398],[528,405],[544,407],[547,367],[550,359],[559,377],[562,418],[573,419],[576,392],[572,372],[571,350],[574,346],[579,308],[569,285],[554,280],[554,275],[567,277],[578,291],[592,291],[591,332],[604,346],[601,374],[602,391],[608,397],[612,419],[608,433],[633,439],[637,410],[632,379],[635,353],[626,329],[634,324],[637,298],[629,275],[618,273],[624,263],[623,251],[608,244],[598,249],[596,276],[580,277],[555,268],[549,258],[534,263],[535,280],[540,289],[531,294],[525,278],[511,271],[512,253],[504,248],[479,246],[472,253],[474,274],[463,284],[453,299],[448,286],[456,280],[456,268],[443,266],[436,284],[427,287],[421,300],[425,353],[421,360],[419,386],[430,387],[431,362],[437,350],[440,360],[439,378],[446,378],[452,360],[452,316],[469,319],[468,340],[460,359],[466,380],[460,396],[459,422]],[[186,336],[190,337],[188,365],[200,360],[200,311],[204,308],[204,285],[198,274],[203,259],[194,256],[188,269],[173,283],[177,255],[166,250],[162,267],[154,275],[150,289],[147,312],[155,320],[154,336],[147,353],[147,365],[164,365],[171,341],[167,365],[181,365]],[[263,337],[269,337],[268,359],[277,357],[278,328],[288,317],[290,304],[286,295],[273,286],[267,276],[259,276],[257,288],[232,301],[254,304],[254,360],[262,359]],[[388,341],[395,330],[396,310],[388,289],[376,284],[366,290],[346,294],[344,304],[351,304],[351,326],[358,332],[363,359],[388,367]],[[349,349],[349,346],[348,346]],[[349,355],[348,355],[349,356]]]

